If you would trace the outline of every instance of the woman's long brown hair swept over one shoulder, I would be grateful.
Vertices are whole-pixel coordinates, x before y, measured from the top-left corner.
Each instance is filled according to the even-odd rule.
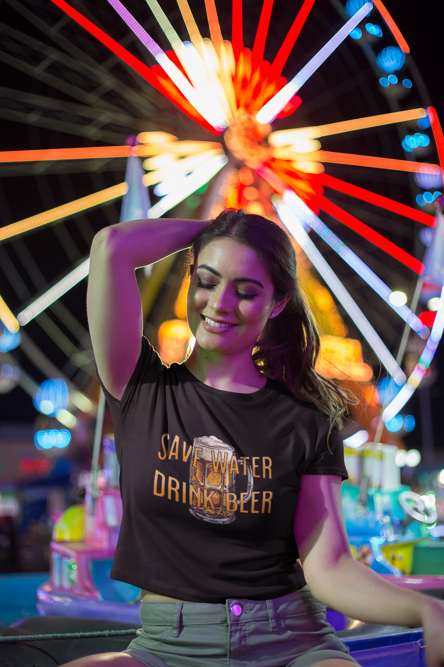
[[[300,289],[296,255],[288,235],[262,215],[226,209],[194,239],[190,248],[191,273],[200,251],[223,237],[248,245],[256,252],[270,275],[277,301],[291,294],[284,310],[275,319],[268,319],[262,330],[253,350],[254,364],[268,378],[282,382],[294,396],[318,406],[330,417],[331,428],[333,422],[341,428],[347,396],[315,370],[320,337]]]

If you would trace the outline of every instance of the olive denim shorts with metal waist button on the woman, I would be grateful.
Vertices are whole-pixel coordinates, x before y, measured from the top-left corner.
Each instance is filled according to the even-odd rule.
[[[308,586],[275,600],[142,602],[126,651],[146,667],[310,667],[349,649]]]

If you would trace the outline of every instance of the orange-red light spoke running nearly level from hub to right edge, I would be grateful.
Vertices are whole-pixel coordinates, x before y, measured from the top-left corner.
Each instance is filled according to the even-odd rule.
[[[314,162],[333,162],[341,165],[355,165],[357,167],[375,167],[375,169],[394,169],[395,171],[417,172],[423,167],[422,162],[410,162],[408,160],[397,160],[391,157],[374,157],[373,155],[355,155],[354,153],[331,153],[330,151],[313,151],[312,153],[296,153],[288,148],[270,147],[269,153],[272,157],[280,159],[294,159],[301,157],[304,160]],[[427,165],[431,173],[441,174],[438,165]]]

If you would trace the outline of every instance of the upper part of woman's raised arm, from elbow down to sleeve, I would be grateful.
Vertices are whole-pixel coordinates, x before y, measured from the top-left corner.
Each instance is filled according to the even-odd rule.
[[[91,247],[88,321],[99,375],[120,400],[140,355],[142,305],[135,266],[120,252],[115,227],[105,227]]]

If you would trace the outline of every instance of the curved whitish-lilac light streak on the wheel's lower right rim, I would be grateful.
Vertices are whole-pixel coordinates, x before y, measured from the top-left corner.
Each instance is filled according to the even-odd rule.
[[[425,371],[427,368],[429,368],[433,360],[433,356],[435,355],[444,330],[444,287],[441,290],[441,303],[443,305],[441,305],[436,313],[429,340],[427,340],[427,343],[425,344],[425,348],[419,358],[419,361],[415,368],[413,368],[407,383],[401,390],[399,390],[398,394],[388,404],[385,410],[383,410],[383,422],[389,422],[391,419],[393,419],[393,417],[395,417],[395,415],[398,414],[399,410],[402,410],[409,398],[413,396],[413,392],[415,392],[415,389],[424,377]]]

